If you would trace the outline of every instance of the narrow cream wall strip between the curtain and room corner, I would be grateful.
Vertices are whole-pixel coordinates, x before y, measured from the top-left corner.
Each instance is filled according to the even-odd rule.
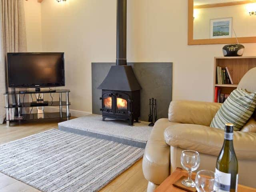
[[[28,52],[42,51],[41,4],[24,0]]]

